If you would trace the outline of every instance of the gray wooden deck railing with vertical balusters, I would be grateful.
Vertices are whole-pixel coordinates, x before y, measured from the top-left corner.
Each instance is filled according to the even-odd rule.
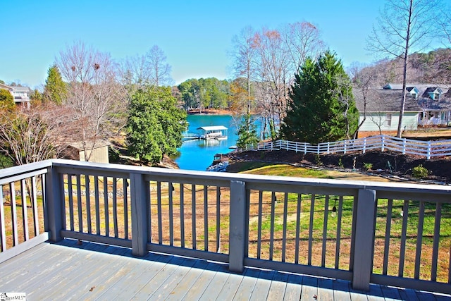
[[[359,289],[451,293],[448,186],[66,160],[6,168],[0,180],[0,262],[47,238],[74,238],[130,247],[136,256],[226,262],[237,272],[256,266]]]

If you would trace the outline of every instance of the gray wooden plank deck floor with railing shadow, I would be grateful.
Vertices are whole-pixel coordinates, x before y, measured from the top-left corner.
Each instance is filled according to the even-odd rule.
[[[27,300],[451,300],[415,290],[371,285],[354,291],[347,281],[278,271],[228,271],[226,264],[75,240],[44,242],[0,264],[0,293]]]

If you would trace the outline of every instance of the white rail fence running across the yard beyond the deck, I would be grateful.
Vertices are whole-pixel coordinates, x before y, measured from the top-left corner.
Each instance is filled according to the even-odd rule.
[[[414,154],[426,156],[431,159],[434,156],[451,156],[451,140],[421,141],[406,138],[398,138],[389,135],[371,136],[352,140],[340,140],[335,142],[323,142],[311,145],[307,142],[294,142],[276,140],[259,142],[257,145],[247,145],[244,150],[290,150],[303,152],[304,154],[333,154],[348,152],[368,152],[371,149],[391,150],[401,154]]]

